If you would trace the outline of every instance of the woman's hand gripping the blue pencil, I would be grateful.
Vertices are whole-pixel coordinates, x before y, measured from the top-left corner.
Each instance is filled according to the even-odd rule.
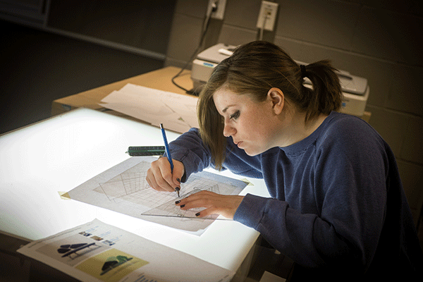
[[[166,157],[161,157],[152,162],[152,166],[147,171],[147,183],[157,191],[175,192],[180,189],[180,178],[185,173],[183,163],[173,159],[173,173],[171,164]]]

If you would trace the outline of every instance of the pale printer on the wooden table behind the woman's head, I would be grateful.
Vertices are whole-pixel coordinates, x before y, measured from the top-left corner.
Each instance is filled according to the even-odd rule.
[[[236,46],[233,45],[219,43],[197,55],[196,59],[192,61],[191,70],[194,90],[200,89],[209,80],[214,67],[223,61],[223,59],[231,56],[235,48]],[[307,65],[307,63],[300,61],[296,62]],[[367,79],[351,75],[348,71],[338,71],[338,77],[341,82],[343,94],[341,112],[353,116],[362,116],[370,93]],[[304,85],[306,87],[312,87],[312,83],[308,78],[305,78]]]

